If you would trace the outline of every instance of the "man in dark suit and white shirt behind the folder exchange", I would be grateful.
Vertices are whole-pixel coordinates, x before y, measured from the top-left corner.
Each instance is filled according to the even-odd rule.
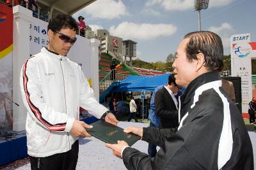
[[[178,123],[178,101],[175,95],[179,91],[179,86],[175,83],[175,77],[170,74],[168,85],[156,93],[155,105],[156,114],[160,118],[159,128],[175,128]]]

